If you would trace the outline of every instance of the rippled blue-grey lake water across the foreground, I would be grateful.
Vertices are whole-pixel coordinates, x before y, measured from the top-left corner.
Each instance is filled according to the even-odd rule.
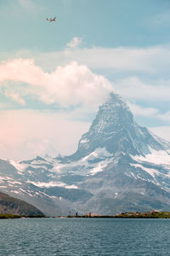
[[[0,219],[0,255],[170,255],[170,219]]]

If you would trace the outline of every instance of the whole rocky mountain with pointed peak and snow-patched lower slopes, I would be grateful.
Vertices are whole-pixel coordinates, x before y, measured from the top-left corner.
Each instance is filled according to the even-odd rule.
[[[75,154],[0,160],[0,189],[48,215],[170,211],[170,143],[111,94]]]

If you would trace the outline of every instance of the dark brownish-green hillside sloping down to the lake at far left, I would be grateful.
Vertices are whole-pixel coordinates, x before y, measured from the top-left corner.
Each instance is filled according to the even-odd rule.
[[[44,215],[37,207],[33,207],[26,201],[16,199],[0,192],[0,214],[18,214],[26,216]]]

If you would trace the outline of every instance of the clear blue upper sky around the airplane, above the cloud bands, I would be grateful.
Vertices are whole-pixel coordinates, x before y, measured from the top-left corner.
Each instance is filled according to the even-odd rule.
[[[82,47],[167,44],[168,0],[3,0],[1,49],[64,49],[77,36]],[[57,15],[56,24],[45,18]],[[11,44],[12,43],[12,44]]]

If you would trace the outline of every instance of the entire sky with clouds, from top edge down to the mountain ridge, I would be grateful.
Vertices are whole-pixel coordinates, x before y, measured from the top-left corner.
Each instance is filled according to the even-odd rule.
[[[170,141],[169,0],[1,0],[0,21],[0,158],[72,154],[111,92]]]

